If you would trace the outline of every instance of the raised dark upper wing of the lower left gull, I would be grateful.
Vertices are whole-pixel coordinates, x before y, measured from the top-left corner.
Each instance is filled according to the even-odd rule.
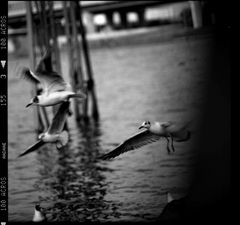
[[[49,134],[60,133],[63,130],[64,124],[67,118],[69,104],[70,102],[67,101],[60,105],[60,107],[58,108],[58,111],[53,117],[50,127],[48,128],[47,132]]]

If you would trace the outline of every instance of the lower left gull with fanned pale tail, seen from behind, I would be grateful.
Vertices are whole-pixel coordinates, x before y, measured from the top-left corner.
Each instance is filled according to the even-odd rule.
[[[69,139],[68,132],[62,130],[66,121],[69,104],[70,102],[68,101],[60,105],[48,130],[45,133],[40,134],[38,136],[39,140],[30,146],[25,152],[21,153],[18,157],[24,156],[30,152],[37,150],[45,143],[56,143],[58,150],[67,144]]]

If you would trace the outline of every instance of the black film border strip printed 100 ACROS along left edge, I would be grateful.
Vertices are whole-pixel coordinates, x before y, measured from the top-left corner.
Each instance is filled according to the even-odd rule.
[[[0,222],[8,221],[8,2],[0,7]]]

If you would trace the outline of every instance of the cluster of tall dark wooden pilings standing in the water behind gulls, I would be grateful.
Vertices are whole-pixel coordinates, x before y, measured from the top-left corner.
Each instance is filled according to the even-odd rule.
[[[37,50],[40,50],[41,55],[43,55],[46,49],[51,48],[52,69],[62,74],[58,43],[59,29],[54,15],[54,1],[26,1],[26,9],[31,69],[34,71],[36,68]],[[82,90],[87,95],[83,104],[79,104],[76,99],[73,99],[75,119],[78,123],[87,122],[90,117],[97,121],[99,112],[80,1],[62,1],[62,10],[64,32],[67,39],[70,82],[73,91]],[[86,68],[86,74],[83,73],[82,63]],[[34,96],[38,92],[39,87],[35,85],[32,95]],[[92,103],[91,112],[89,112],[90,101]],[[56,107],[53,107],[53,113],[55,111]],[[42,132],[49,126],[49,118],[45,108],[37,106],[35,117],[38,132]]]

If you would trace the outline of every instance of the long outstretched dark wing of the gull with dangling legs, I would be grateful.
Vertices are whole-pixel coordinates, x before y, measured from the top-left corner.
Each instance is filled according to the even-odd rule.
[[[125,140],[113,151],[103,155],[101,159],[106,160],[106,159],[115,158],[116,156],[124,152],[128,152],[128,151],[140,148],[143,145],[158,141],[159,139],[160,139],[159,135],[153,134],[149,130],[144,130]]]

